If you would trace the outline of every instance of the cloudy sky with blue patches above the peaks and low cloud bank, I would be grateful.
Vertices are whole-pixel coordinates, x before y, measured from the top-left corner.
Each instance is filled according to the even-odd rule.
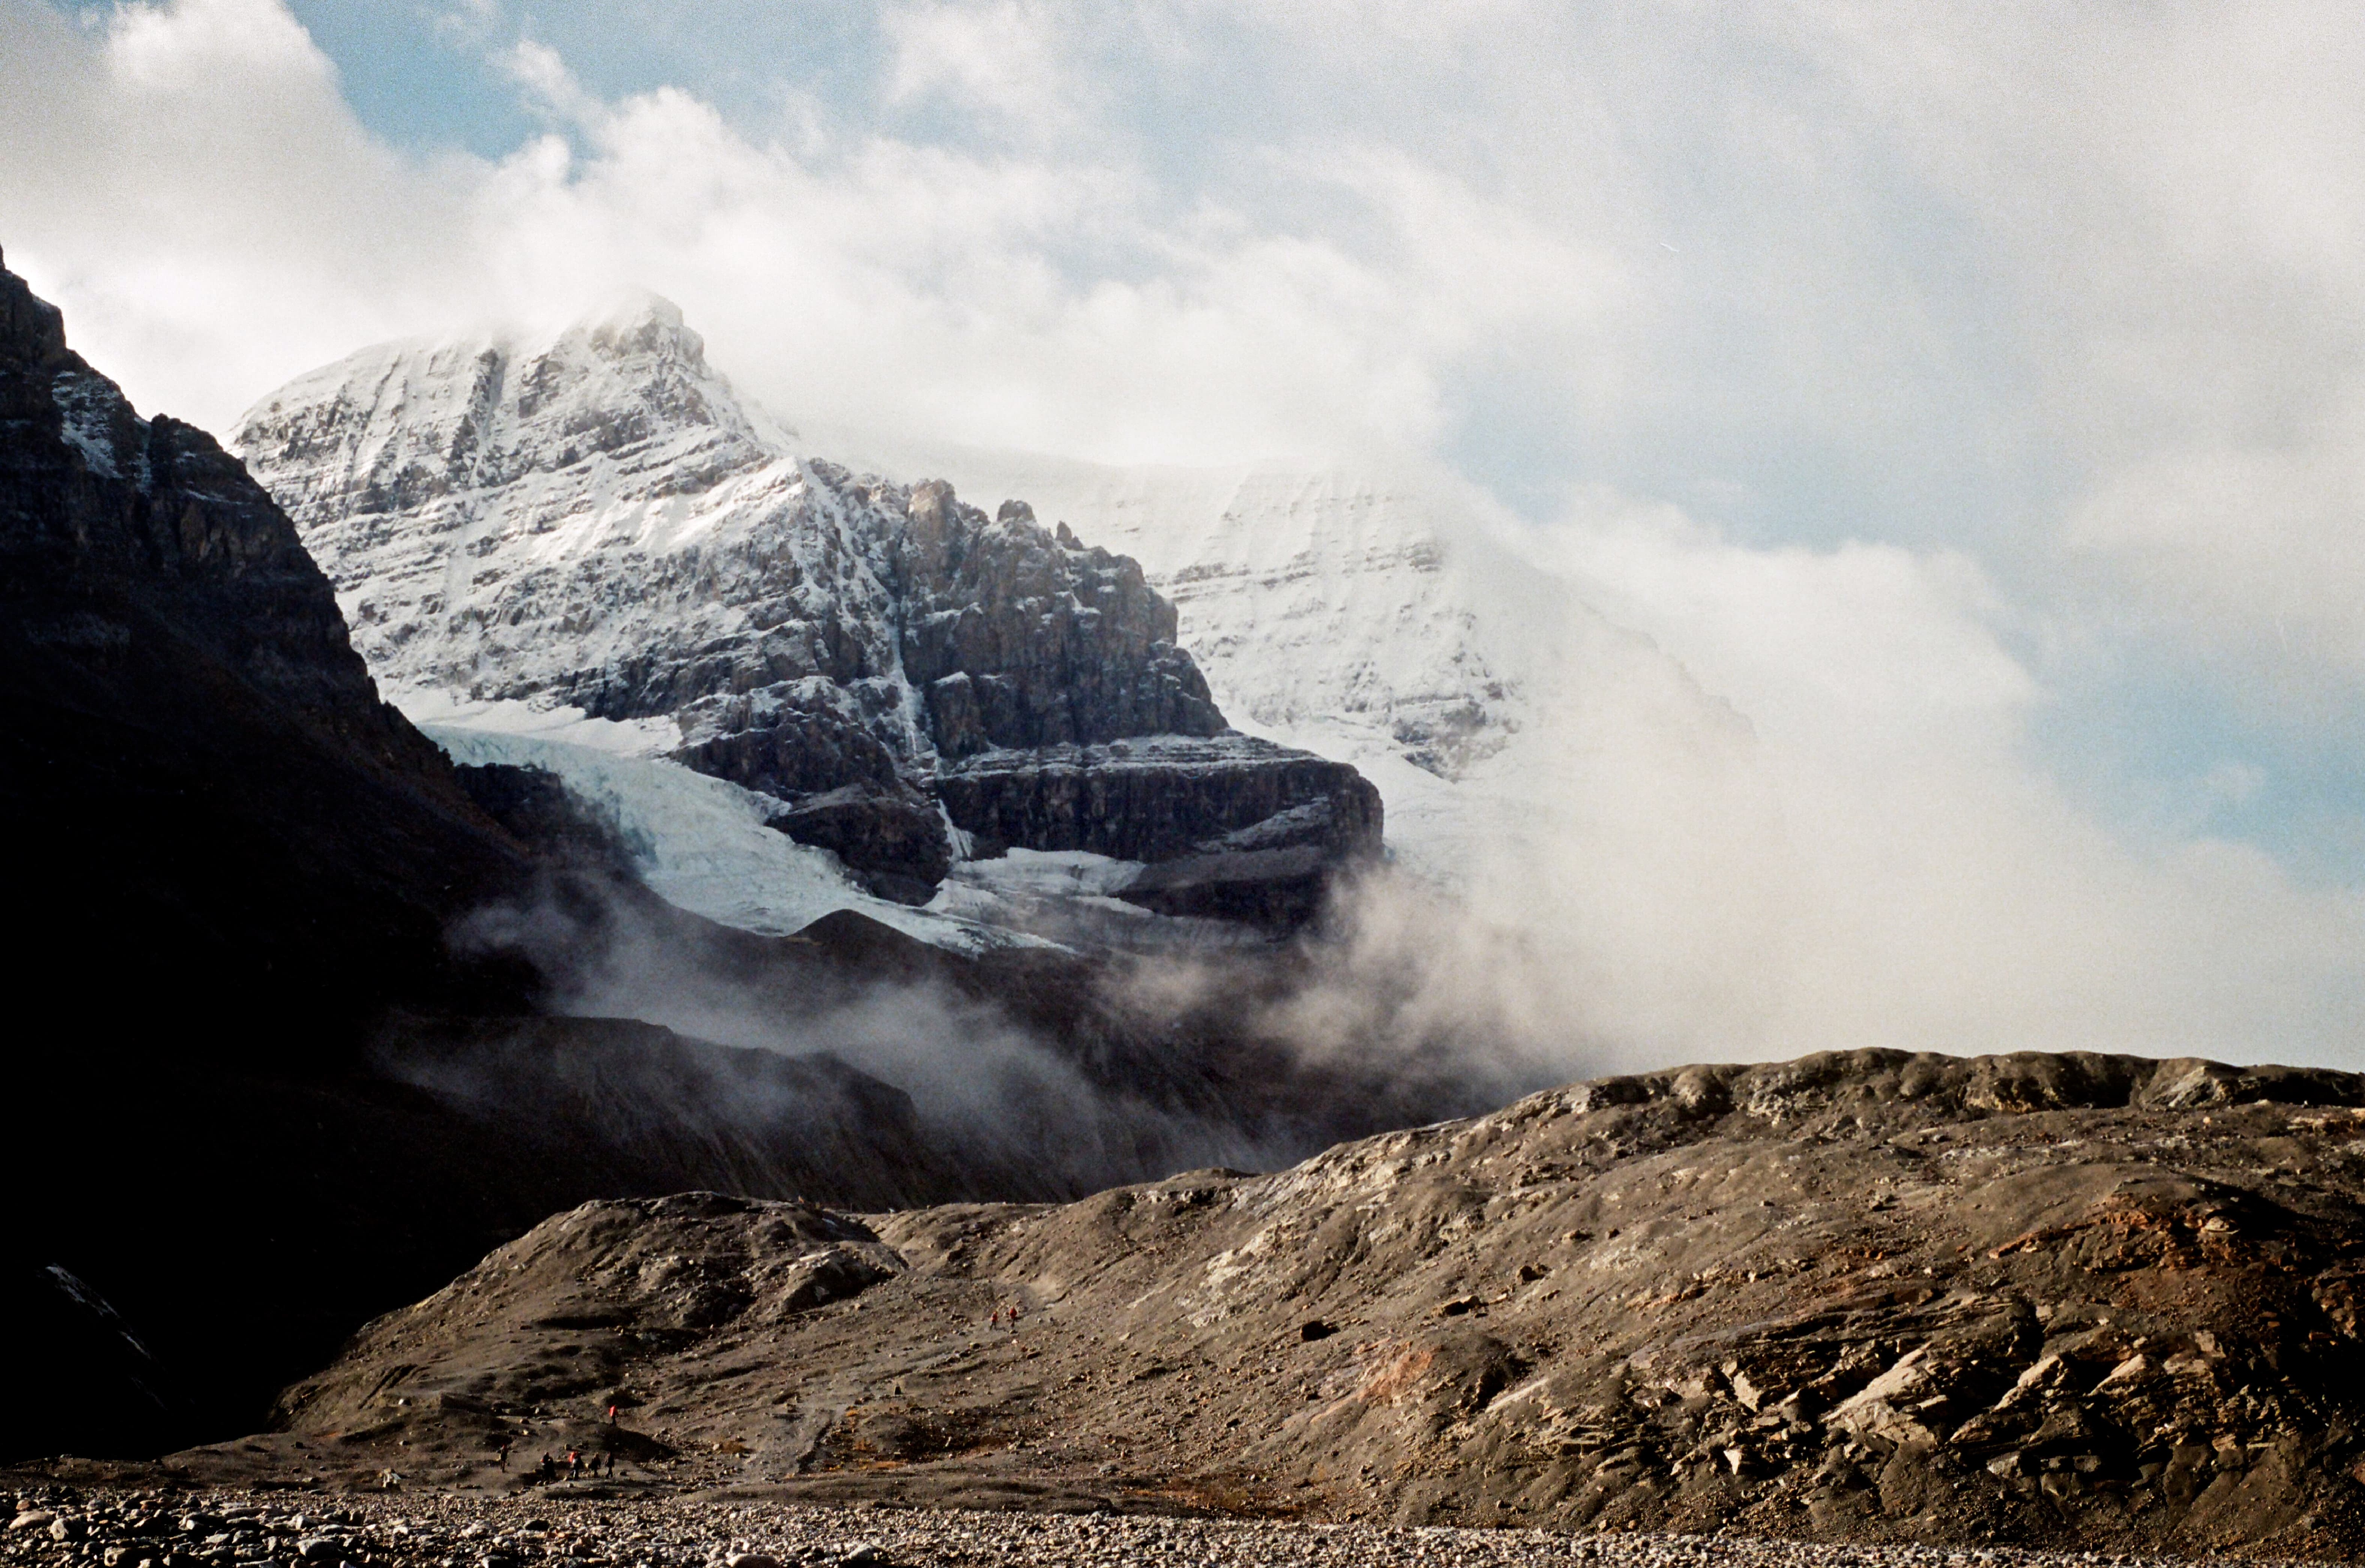
[[[142,407],[646,284],[797,419],[1436,468],[1767,726],[1897,657],[2126,856],[2365,889],[2353,7],[0,0],[0,244]],[[1700,539],[1715,627],[1665,587]],[[1894,634],[1752,631],[1821,603]]]

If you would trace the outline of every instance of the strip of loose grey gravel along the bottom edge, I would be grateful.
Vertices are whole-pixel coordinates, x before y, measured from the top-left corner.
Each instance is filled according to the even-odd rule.
[[[2140,1568],[2166,1559],[1076,1514],[561,1497],[28,1492],[0,1563],[99,1568]]]

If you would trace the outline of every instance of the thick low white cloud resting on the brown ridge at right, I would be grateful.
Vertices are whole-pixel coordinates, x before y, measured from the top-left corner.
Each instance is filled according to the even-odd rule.
[[[1648,1062],[1899,1045],[2365,1064],[2365,901],[2202,823],[2136,847],[2081,811],[2029,764],[2046,693],[1961,556],[1745,549],[1601,497],[1530,544],[1750,719],[1719,736],[1712,707],[1599,636],[1540,681],[1559,705],[1514,740],[1516,773],[1483,780],[1518,806],[1471,896],[1556,955],[1525,984],[1561,1041]],[[2204,783],[2240,802],[2263,778]]]

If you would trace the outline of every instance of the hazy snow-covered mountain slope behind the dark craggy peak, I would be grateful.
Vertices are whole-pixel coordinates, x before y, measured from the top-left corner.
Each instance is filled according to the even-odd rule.
[[[1585,778],[1724,802],[1700,811],[1752,809],[1729,795],[1755,771],[1748,724],[1603,615],[1618,605],[1606,582],[1554,565],[1540,534],[1436,475],[1369,461],[1102,468],[901,435],[832,440],[963,492],[1022,494],[1138,558],[1223,712],[1353,764],[1386,797],[1391,863],[1492,920],[1570,918],[1525,870],[1603,832]],[[1696,816],[1670,806],[1658,821]],[[1689,830],[1663,830],[1665,854],[1679,854]],[[1634,840],[1611,830],[1601,844],[1589,858],[1608,875]]]

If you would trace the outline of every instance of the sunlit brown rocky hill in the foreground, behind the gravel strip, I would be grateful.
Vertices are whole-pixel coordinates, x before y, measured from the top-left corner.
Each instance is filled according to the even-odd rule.
[[[2360,1192],[2346,1074],[1693,1067],[1064,1206],[587,1204],[166,1464],[2341,1559]]]

